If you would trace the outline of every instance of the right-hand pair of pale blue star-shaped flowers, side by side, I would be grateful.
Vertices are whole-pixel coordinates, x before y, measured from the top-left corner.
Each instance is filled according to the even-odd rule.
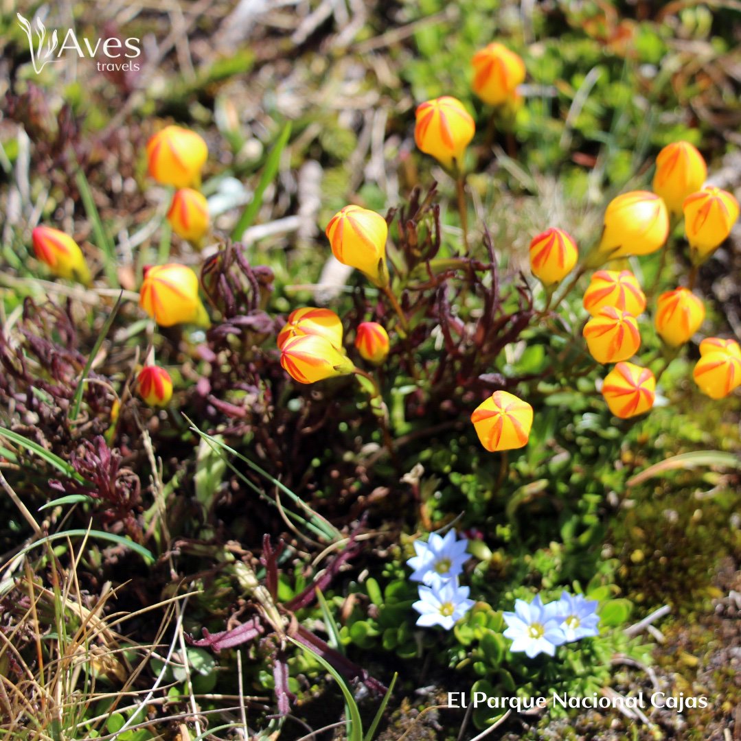
[[[536,595],[529,604],[517,599],[514,612],[505,612],[504,637],[512,641],[510,651],[524,651],[530,659],[538,654],[553,656],[564,643],[599,635],[597,602],[581,594],[563,592],[557,602],[543,604]]]

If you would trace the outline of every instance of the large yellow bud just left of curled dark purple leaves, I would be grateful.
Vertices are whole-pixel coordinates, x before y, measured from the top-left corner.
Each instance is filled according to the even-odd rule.
[[[198,278],[190,268],[171,262],[145,268],[139,306],[160,327],[183,323],[208,324],[198,296]]]

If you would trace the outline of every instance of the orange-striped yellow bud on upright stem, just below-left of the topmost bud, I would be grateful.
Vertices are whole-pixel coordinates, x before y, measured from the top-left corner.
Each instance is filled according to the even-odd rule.
[[[443,167],[461,170],[463,157],[476,130],[463,104],[451,96],[433,98],[417,106],[414,140]]]

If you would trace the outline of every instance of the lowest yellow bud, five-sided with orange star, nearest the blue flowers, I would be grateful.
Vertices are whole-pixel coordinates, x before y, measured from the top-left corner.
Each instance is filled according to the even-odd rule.
[[[527,445],[533,408],[513,393],[495,391],[475,408],[471,422],[487,451],[511,451]]]

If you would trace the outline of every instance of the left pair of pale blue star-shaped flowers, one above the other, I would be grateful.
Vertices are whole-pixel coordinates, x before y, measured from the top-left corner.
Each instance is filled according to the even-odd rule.
[[[412,605],[419,613],[417,625],[440,625],[449,631],[473,607],[473,600],[468,599],[470,589],[458,583],[469,559],[467,548],[467,539],[458,540],[454,530],[444,537],[432,533],[426,543],[415,541],[417,555],[406,565],[413,569],[412,581],[421,582],[419,599]]]

